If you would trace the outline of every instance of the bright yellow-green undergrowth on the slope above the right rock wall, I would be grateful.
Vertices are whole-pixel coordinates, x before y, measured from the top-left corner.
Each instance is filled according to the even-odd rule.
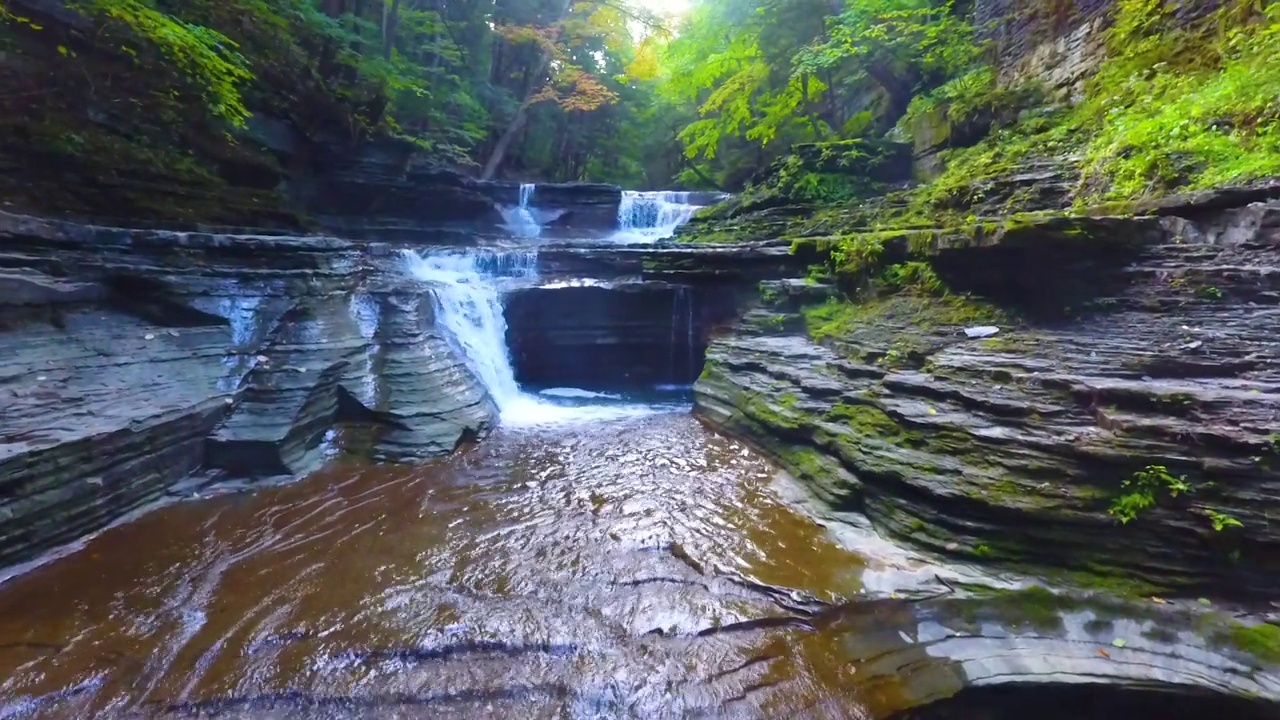
[[[975,181],[1075,154],[1078,208],[1280,174],[1280,5],[1230,0],[1187,27],[1175,10],[1166,0],[1117,1],[1107,59],[1079,104],[1024,114],[951,151],[918,200],[974,204]]]

